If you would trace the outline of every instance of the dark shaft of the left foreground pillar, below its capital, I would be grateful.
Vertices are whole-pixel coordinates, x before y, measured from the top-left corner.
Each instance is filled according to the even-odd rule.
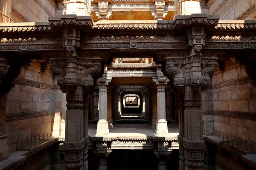
[[[84,95],[81,86],[67,91],[66,133],[65,133],[65,168],[87,170],[87,159],[84,158],[85,141],[88,136],[84,128]],[[85,153],[87,154],[87,152]]]

